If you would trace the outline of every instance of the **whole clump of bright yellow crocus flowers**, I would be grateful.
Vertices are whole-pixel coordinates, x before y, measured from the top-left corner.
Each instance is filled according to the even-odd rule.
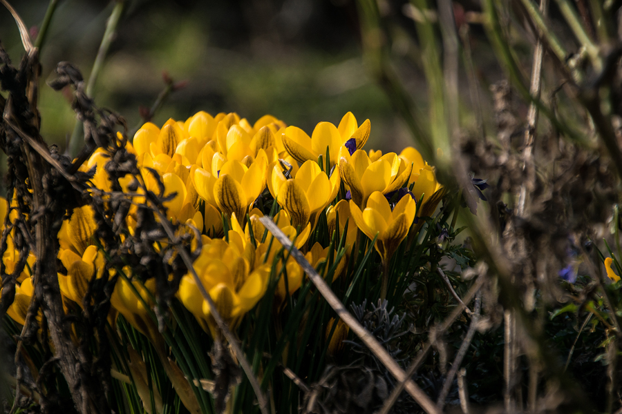
[[[415,217],[435,210],[443,190],[434,168],[411,147],[399,154],[366,152],[369,135],[370,121],[358,124],[351,112],[337,126],[320,122],[310,135],[272,115],[251,124],[236,113],[197,112],[185,121],[169,119],[161,127],[144,124],[126,149],[137,159],[144,188],[159,193],[163,186],[167,219],[200,233],[202,250],[194,268],[218,313],[235,328],[265,295],[274,273],[281,275],[274,289],[277,308],[285,306],[304,277],[289,255],[279,254],[281,244],[267,234],[260,217],[272,215],[294,246],[318,267],[337,257],[334,249],[311,237],[320,217],[326,217],[323,222],[337,234],[337,241],[347,226],[346,255],[333,273],[337,279],[355,253],[357,238],[375,239],[375,249],[386,263],[409,231],[417,228]],[[81,168],[86,172],[95,167],[93,190],[111,190],[106,162],[106,149],[100,148]],[[124,189],[130,182],[131,177],[120,180]],[[126,216],[130,232],[137,226],[136,206],[144,202],[144,193],[135,191]],[[6,201],[1,206],[4,217]],[[95,240],[91,206],[68,211],[68,217],[58,235],[63,264],[59,288],[64,299],[83,306],[89,281],[104,272],[105,246]],[[8,270],[16,260],[10,243],[9,235],[3,257]],[[32,261],[34,256],[29,257]],[[123,273],[131,275],[131,269]],[[111,295],[111,321],[124,315],[148,337],[158,335],[147,316],[155,294],[152,282],[118,278]],[[32,291],[25,271],[8,311],[20,324]],[[214,319],[195,279],[182,277],[176,297],[205,331],[215,334]]]

